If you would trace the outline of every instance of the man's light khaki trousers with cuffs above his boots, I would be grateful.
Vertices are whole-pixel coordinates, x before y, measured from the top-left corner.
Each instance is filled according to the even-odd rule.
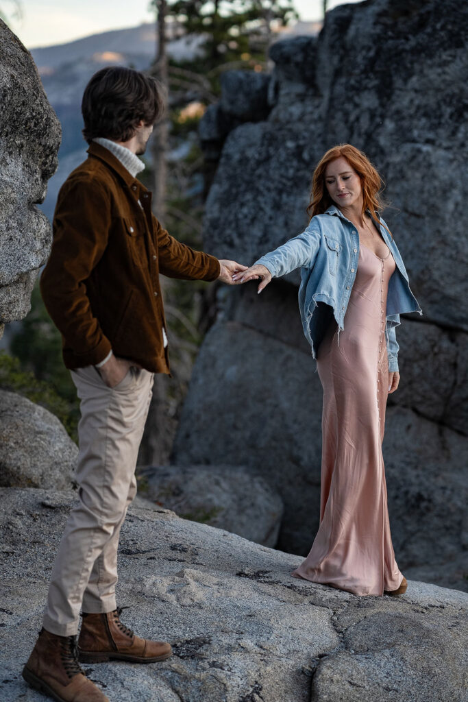
[[[81,607],[94,614],[116,609],[119,534],[136,494],[153,385],[153,373],[135,368],[112,389],[94,366],[72,371],[72,378],[81,400],[79,503],[60,542],[44,613],[44,628],[59,636],[77,633]]]

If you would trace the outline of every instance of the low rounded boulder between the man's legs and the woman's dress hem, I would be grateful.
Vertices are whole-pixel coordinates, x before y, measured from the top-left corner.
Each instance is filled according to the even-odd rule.
[[[152,466],[140,469],[139,491],[147,500],[185,519],[232,531],[265,546],[278,541],[283,502],[252,470],[240,466]]]

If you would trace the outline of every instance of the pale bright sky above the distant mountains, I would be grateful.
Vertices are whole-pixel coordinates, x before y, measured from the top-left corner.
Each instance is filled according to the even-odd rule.
[[[342,2],[329,0],[328,7],[332,9]],[[149,0],[20,0],[19,4],[22,19],[13,16],[13,0],[0,0],[0,11],[27,48],[65,44],[90,34],[135,27],[154,19],[148,11]],[[322,0],[295,0],[302,20],[321,19],[322,6]]]

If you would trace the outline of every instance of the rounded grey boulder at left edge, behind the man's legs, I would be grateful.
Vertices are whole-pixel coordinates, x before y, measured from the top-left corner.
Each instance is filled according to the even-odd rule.
[[[0,390],[0,485],[65,490],[74,483],[78,446],[39,404]]]

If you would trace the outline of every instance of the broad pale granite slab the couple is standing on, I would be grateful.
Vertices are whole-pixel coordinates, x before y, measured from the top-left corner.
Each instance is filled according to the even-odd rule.
[[[20,675],[34,645],[71,502],[0,490],[0,698],[41,696]],[[37,529],[37,524],[41,529]],[[25,535],[30,535],[25,538]],[[468,596],[410,581],[356,597],[290,576],[300,557],[168,510],[130,508],[119,605],[137,633],[168,640],[156,665],[87,665],[121,702],[437,702],[467,689]]]

